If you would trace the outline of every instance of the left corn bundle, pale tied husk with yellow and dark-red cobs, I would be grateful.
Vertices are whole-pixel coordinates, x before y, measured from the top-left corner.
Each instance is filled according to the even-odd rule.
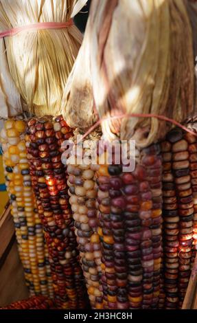
[[[84,307],[84,290],[67,202],[67,178],[58,151],[69,128],[56,122],[54,129],[47,121],[45,127],[41,120],[31,124],[26,115],[58,114],[62,91],[82,43],[72,19],[85,3],[0,1],[0,32],[25,29],[3,38],[0,34],[0,116],[14,117],[5,122],[1,144],[25,282],[31,296],[54,296],[58,307],[71,309]],[[40,23],[63,23],[65,27],[40,29]],[[32,24],[38,30],[30,30]],[[30,133],[25,137],[26,124]]]

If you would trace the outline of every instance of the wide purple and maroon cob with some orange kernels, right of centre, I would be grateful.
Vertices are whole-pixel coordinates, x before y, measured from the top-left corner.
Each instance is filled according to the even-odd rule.
[[[159,302],[161,276],[161,158],[158,146],[97,171],[102,289],[108,309],[149,309]],[[104,192],[102,192],[104,190]]]

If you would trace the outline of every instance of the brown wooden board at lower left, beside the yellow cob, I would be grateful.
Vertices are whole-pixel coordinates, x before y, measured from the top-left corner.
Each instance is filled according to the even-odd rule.
[[[0,307],[25,298],[28,291],[8,208],[0,220]]]

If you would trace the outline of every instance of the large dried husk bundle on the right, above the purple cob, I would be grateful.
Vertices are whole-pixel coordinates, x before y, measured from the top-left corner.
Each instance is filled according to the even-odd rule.
[[[84,73],[78,73],[81,66]],[[88,91],[84,91],[86,85]],[[91,93],[93,98],[85,98]],[[93,99],[100,118],[154,113],[182,122],[192,113],[194,55],[184,1],[93,1],[84,43],[62,101],[66,120],[70,122],[74,115],[76,126],[83,127],[89,115],[86,126],[90,126]],[[128,116],[102,122],[107,139],[115,135],[135,139],[141,147],[163,137],[170,126],[156,118]]]

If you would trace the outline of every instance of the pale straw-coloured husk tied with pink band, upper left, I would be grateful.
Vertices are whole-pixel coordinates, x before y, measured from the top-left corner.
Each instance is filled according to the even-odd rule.
[[[85,3],[86,0],[1,0],[0,30],[69,21]],[[25,31],[1,39],[3,107],[18,111],[22,100],[30,113],[58,115],[63,89],[81,43],[82,34],[75,25],[59,30]]]

